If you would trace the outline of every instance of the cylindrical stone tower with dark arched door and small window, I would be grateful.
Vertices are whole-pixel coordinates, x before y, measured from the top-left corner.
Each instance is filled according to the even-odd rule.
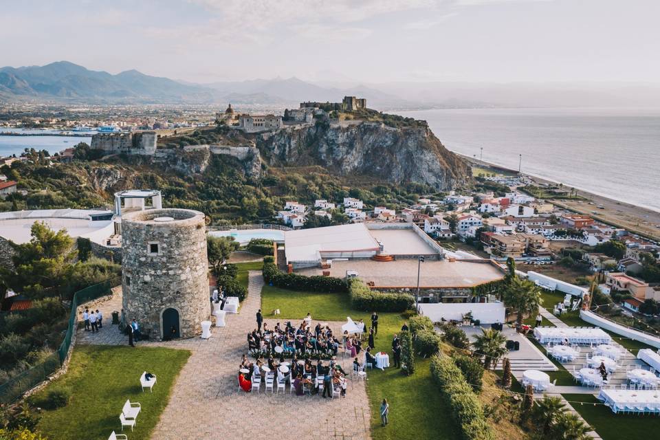
[[[187,209],[122,215],[122,288],[126,319],[151,338],[189,338],[210,316],[206,223]]]

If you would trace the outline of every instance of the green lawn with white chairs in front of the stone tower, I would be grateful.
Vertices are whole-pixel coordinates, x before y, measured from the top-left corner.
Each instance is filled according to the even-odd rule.
[[[67,388],[72,393],[69,404],[44,411],[38,428],[50,440],[104,440],[113,430],[121,431],[119,415],[131,399],[140,402],[142,410],[135,430],[124,433],[131,440],[148,439],[189,356],[187,350],[156,347],[76,347],[67,374],[45,389]],[[157,377],[153,393],[140,388],[143,371]]]

